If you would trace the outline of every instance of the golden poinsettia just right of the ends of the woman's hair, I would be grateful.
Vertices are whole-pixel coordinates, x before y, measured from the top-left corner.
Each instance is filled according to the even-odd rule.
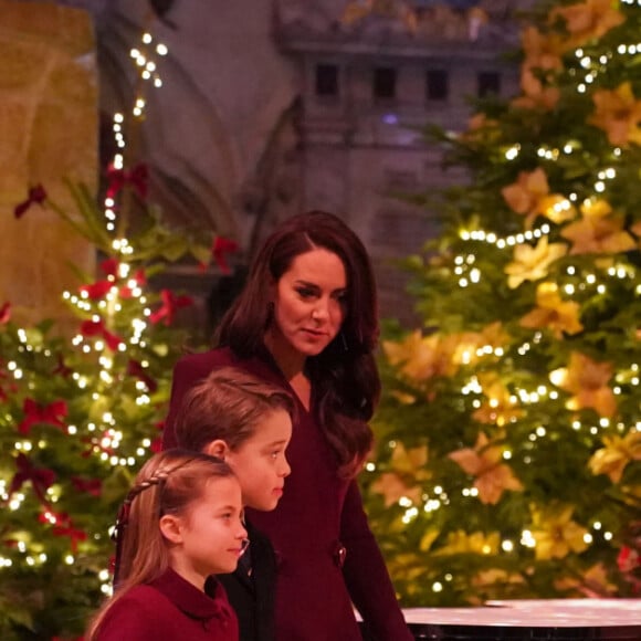
[[[387,507],[403,497],[419,504],[423,495],[422,483],[430,477],[427,462],[427,445],[406,450],[402,443],[398,443],[391,455],[391,470],[383,472],[371,484],[371,490],[382,495]]]

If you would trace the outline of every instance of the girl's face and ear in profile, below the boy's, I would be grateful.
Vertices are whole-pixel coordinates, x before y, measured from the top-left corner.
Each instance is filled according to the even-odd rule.
[[[171,567],[198,589],[209,575],[235,570],[248,533],[241,522],[242,496],[239,482],[231,476],[210,479],[202,495],[186,514],[166,515],[160,527],[174,545]]]

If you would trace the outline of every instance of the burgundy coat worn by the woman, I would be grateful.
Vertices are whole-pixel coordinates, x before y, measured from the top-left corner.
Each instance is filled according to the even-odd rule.
[[[229,348],[182,358],[174,387],[165,448],[176,445],[174,424],[186,392],[210,371],[235,366],[293,393],[269,353],[239,358]],[[292,474],[276,509],[248,509],[279,559],[277,641],[360,641],[351,603],[377,641],[410,641],[387,568],[369,529],[358,485],[336,474],[336,462],[312,412],[297,401],[298,420],[287,449]],[[336,550],[347,548],[343,569]],[[238,612],[243,617],[243,612]]]

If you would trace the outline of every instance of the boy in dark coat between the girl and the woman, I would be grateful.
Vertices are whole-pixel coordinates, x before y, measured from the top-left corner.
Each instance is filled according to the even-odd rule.
[[[180,448],[224,459],[243,504],[266,512],[276,507],[290,474],[293,414],[294,400],[282,388],[223,367],[187,393],[172,435]],[[250,523],[245,527],[246,555],[237,571],[218,578],[239,617],[241,641],[272,641],[276,558],[270,540]]]

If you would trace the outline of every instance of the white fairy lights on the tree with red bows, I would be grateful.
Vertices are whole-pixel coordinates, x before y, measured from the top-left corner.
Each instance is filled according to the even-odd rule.
[[[130,57],[135,62],[135,67],[137,70],[140,82],[138,95],[135,96],[134,106],[132,108],[130,117],[136,120],[143,120],[145,116],[145,108],[147,106],[144,90],[145,85],[151,84],[155,88],[162,86],[162,80],[158,71],[158,60],[159,57],[166,56],[168,54],[167,46],[161,42],[156,42],[151,34],[144,32],[140,36],[140,43],[138,48],[133,48],[129,52]],[[114,114],[113,117],[113,133],[114,140],[117,151],[112,160],[112,166],[116,170],[124,170],[124,150],[126,148],[125,138],[125,116],[122,113]],[[107,232],[114,233],[116,231],[117,222],[117,202],[114,198],[106,197],[104,200],[104,217],[105,227]],[[135,298],[143,306],[144,318],[134,318],[132,320],[132,332],[126,340],[120,340],[117,350],[119,353],[126,353],[128,347],[141,347],[145,348],[147,345],[145,338],[145,330],[148,326],[147,319],[151,315],[151,311],[146,307],[147,298],[145,296],[144,290],[139,286],[139,283],[130,275],[130,265],[127,263],[127,259],[134,253],[134,248],[130,245],[126,238],[116,238],[112,241],[112,249],[118,254],[118,272],[117,275],[109,274],[106,276],[108,281],[113,283],[111,290],[106,293],[104,298],[95,302],[92,301],[86,291],[82,291],[80,294],[74,294],[71,292],[64,292],[63,298],[74,305],[82,314],[92,314],[91,319],[94,323],[99,323],[103,317],[111,318],[115,314],[122,311],[122,301],[119,290],[123,285],[126,285],[130,298]],[[120,281],[118,284],[117,281]],[[94,307],[97,307],[97,309]],[[20,328],[18,330],[19,338],[19,351],[27,353],[41,353],[48,358],[53,358],[54,355],[51,354],[49,349],[41,349],[40,346],[30,343],[28,333]],[[114,358],[109,351],[108,346],[104,339],[96,337],[87,337],[78,333],[72,339],[72,345],[82,350],[83,354],[97,354],[98,358],[98,379],[104,386],[104,391],[107,391],[108,386],[113,382],[113,365]],[[143,369],[149,366],[148,361],[143,360],[140,362]],[[7,362],[7,369],[12,374],[15,380],[23,378],[24,372],[20,368],[19,364],[14,360]],[[77,385],[78,389],[84,390],[90,385],[87,377],[80,372],[72,372],[73,380]],[[148,396],[148,389],[144,381],[138,380],[136,382],[136,389],[138,396],[136,397],[136,403],[139,406],[145,406],[150,402]],[[98,401],[101,397],[99,391],[92,392],[92,400]],[[128,455],[123,456],[114,452],[117,452],[120,441],[123,440],[123,433],[117,429],[116,420],[112,412],[104,411],[101,416],[101,421],[91,421],[86,424],[86,430],[90,434],[96,434],[95,440],[92,444],[92,452],[97,455],[101,461],[105,464],[112,466],[135,466],[139,459],[145,459],[149,454],[149,449],[151,446],[150,439],[143,439],[139,445],[136,448],[136,456]],[[78,427],[74,424],[66,425],[66,432],[70,435],[75,435],[78,433]],[[48,442],[45,439],[40,439],[36,443],[33,443],[27,439],[17,440],[14,443],[14,450],[17,453],[29,453],[34,448],[45,449]],[[48,502],[53,506],[60,500],[60,487],[53,484],[46,490],[45,493]],[[23,492],[13,492],[11,496],[8,495],[7,482],[0,480],[0,500],[7,502],[9,509],[17,511],[20,509],[22,503],[25,500],[25,494]],[[59,525],[59,516],[51,509],[44,509],[42,514],[44,521],[50,525]],[[101,537],[99,534],[94,535],[97,538]],[[45,551],[41,550],[42,546],[38,542],[30,542],[29,545],[25,540],[18,540],[15,549],[24,555],[23,559],[28,566],[36,566],[39,564],[46,563],[48,555]],[[75,563],[75,557],[73,554],[67,554],[64,557],[64,561],[69,565]],[[10,557],[0,555],[0,568],[11,567],[13,560]],[[98,572],[98,579],[102,581],[101,589],[104,593],[111,593],[111,574],[105,568]]]

